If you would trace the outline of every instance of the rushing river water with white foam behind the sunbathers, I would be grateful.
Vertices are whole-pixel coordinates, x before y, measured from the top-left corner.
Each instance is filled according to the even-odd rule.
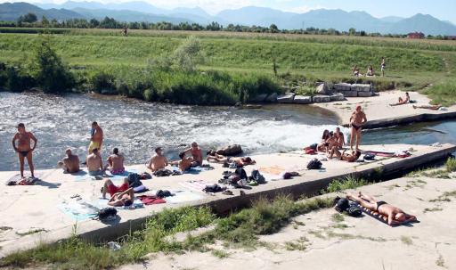
[[[92,121],[98,121],[104,130],[103,157],[118,147],[127,164],[146,162],[156,146],[164,147],[173,159],[183,144],[192,141],[203,149],[239,143],[246,154],[297,150],[318,142],[323,129],[333,130],[337,125],[333,114],[310,106],[238,110],[85,94],[0,92],[0,116],[0,170],[19,168],[11,145],[19,122],[38,138],[36,168],[55,168],[68,147],[83,160]],[[366,132],[363,143],[456,143],[451,133],[455,128],[456,122],[444,122],[379,129]]]

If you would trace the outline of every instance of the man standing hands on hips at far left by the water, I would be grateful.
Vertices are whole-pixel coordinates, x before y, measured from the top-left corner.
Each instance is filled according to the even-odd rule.
[[[32,178],[35,178],[32,160],[32,152],[37,147],[37,138],[31,133],[25,130],[25,125],[20,123],[18,126],[18,133],[12,137],[12,148],[18,153],[20,163],[20,176],[24,178],[24,159],[27,158],[28,167]],[[31,148],[31,141],[33,140],[33,148]],[[16,145],[17,141],[17,145]]]

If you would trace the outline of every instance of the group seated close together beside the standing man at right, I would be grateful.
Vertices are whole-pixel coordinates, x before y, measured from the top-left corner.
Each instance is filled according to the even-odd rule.
[[[361,156],[361,151],[346,151],[344,150],[345,137],[340,131],[340,127],[336,127],[334,132],[328,129],[323,131],[322,142],[316,146],[316,151],[324,152],[329,159],[337,158],[348,162],[354,162]],[[306,147],[305,149],[309,149]]]

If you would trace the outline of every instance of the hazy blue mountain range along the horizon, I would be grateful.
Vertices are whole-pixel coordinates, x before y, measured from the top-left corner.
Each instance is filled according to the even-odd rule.
[[[38,6],[37,6],[38,5]],[[414,31],[426,35],[456,36],[456,26],[431,15],[416,14],[410,18],[388,16],[375,18],[367,12],[345,12],[343,10],[313,10],[305,13],[282,12],[271,8],[246,6],[235,10],[224,10],[210,15],[199,7],[179,7],[172,10],[162,9],[145,2],[102,4],[98,2],[74,2],[63,4],[0,4],[0,20],[17,20],[20,15],[34,12],[38,17],[45,15],[50,19],[65,20],[72,18],[102,19],[109,16],[121,21],[169,21],[173,23],[188,21],[208,24],[216,21],[224,26],[229,23],[269,27],[276,24],[279,29],[337,29],[346,31],[354,28],[369,33],[407,34]]]

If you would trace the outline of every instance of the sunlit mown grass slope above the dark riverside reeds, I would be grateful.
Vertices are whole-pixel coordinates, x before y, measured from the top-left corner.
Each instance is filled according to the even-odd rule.
[[[456,102],[452,97],[456,41],[156,30],[131,30],[129,37],[122,37],[117,29],[65,29],[63,33],[53,35],[53,47],[74,70],[141,69],[154,59],[171,55],[192,35],[199,37],[207,59],[199,70],[271,76],[275,59],[281,78],[350,81],[354,80],[350,77],[354,64],[362,73],[368,65],[379,71],[380,58],[385,56],[387,77],[370,79],[379,90],[430,86],[425,93],[435,96],[436,102]],[[38,37],[0,34],[0,61],[28,61]],[[450,100],[438,98],[441,94]]]

